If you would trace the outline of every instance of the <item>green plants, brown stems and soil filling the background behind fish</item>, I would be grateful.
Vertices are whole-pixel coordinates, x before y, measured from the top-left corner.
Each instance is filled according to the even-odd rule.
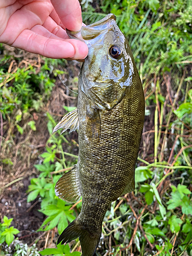
[[[136,189],[106,212],[96,255],[191,256],[192,2],[82,0],[81,6],[86,24],[116,15],[146,101]],[[54,194],[56,181],[77,162],[78,134],[52,135],[77,105],[80,63],[2,44],[0,51],[0,254],[81,255],[78,240],[55,249],[81,208],[81,201],[68,204]]]

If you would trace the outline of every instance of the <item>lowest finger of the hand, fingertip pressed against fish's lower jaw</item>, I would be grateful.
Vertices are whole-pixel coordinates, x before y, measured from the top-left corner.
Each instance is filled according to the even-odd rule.
[[[47,38],[30,30],[20,33],[12,46],[49,58],[82,59],[88,54],[87,45],[79,40]]]

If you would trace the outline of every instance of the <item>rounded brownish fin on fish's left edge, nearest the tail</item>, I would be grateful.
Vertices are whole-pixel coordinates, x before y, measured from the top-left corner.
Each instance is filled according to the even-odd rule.
[[[75,203],[81,197],[77,179],[77,165],[65,173],[56,183],[55,195],[69,203]]]

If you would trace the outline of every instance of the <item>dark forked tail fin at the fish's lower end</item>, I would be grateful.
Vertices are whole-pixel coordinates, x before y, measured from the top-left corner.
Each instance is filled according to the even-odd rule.
[[[70,241],[79,237],[82,249],[82,256],[93,256],[97,249],[101,233],[92,237],[87,230],[81,229],[77,224],[76,219],[61,233],[58,238],[57,244],[69,243]]]

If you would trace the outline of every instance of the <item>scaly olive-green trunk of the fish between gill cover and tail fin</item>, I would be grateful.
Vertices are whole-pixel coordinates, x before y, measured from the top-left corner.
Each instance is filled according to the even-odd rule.
[[[86,106],[90,100],[79,91],[79,179],[82,209],[79,220],[100,228],[110,203],[134,190],[134,170],[140,144],[143,95],[129,88],[122,101],[111,111],[99,111],[101,134],[98,143],[88,137]],[[81,95],[81,96],[80,96]],[[139,97],[139,95],[141,95]],[[132,104],[131,104],[132,103]],[[82,125],[81,125],[82,122]],[[91,127],[90,127],[91,129]],[[129,188],[130,186],[130,188]]]

